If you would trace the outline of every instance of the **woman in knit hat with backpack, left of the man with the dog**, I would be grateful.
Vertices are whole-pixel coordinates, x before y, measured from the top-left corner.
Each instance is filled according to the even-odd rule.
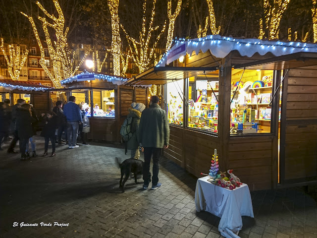
[[[131,132],[133,133],[132,137],[127,142],[127,149],[131,150],[130,158],[139,159],[140,157],[137,131],[139,129],[141,113],[144,109],[145,105],[143,103],[132,103],[131,108],[129,108],[128,118],[132,118]]]

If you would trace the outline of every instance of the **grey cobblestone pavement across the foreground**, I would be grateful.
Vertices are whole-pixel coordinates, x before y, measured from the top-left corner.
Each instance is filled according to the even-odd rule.
[[[43,154],[43,148],[44,141],[38,137],[38,154]],[[128,180],[121,193],[116,156],[128,158],[121,147],[97,142],[75,149],[57,146],[55,157],[29,161],[0,151],[0,237],[221,237],[220,218],[196,212],[197,178],[162,159],[162,187],[143,190],[142,183]],[[303,189],[257,191],[251,196],[255,219],[243,217],[240,237],[317,238],[316,200]],[[51,223],[52,227],[20,228],[13,227],[14,222]],[[69,226],[54,226],[54,222]]]

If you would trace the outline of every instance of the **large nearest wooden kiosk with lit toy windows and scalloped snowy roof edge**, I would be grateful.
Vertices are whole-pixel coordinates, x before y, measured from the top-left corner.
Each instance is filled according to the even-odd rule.
[[[217,149],[220,171],[233,169],[251,190],[317,182],[316,44],[218,35],[178,42],[125,84],[164,84],[163,154],[196,177],[209,173]]]

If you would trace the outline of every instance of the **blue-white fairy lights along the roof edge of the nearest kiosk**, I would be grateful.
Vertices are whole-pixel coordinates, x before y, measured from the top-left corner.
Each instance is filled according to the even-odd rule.
[[[260,49],[266,49],[269,52],[274,52],[277,49],[280,49],[282,51],[286,51],[287,49],[289,50],[299,50],[299,51],[303,51],[303,52],[309,52],[309,51],[313,51],[313,52],[317,52],[317,45],[316,44],[308,44],[306,42],[282,42],[282,41],[263,41],[263,40],[257,40],[257,39],[236,39],[236,38],[232,38],[232,37],[221,37],[219,35],[210,35],[207,37],[203,37],[203,38],[198,38],[198,39],[185,39],[185,38],[175,38],[173,39],[173,42],[175,43],[174,47],[178,47],[178,45],[176,46],[176,44],[178,43],[186,43],[187,47],[192,46],[193,48],[200,48],[201,46],[204,45],[204,47],[206,47],[206,44],[210,44],[210,47],[220,47],[219,44],[224,43],[224,42],[230,42],[230,43],[234,43],[237,44],[237,47],[256,47],[257,50]],[[161,63],[162,62],[166,62],[166,57],[168,55],[168,53],[170,51],[173,50],[172,47],[168,52],[166,52],[161,60],[159,60],[159,63],[156,65],[158,66],[162,66]],[[228,47],[228,46],[226,46]]]

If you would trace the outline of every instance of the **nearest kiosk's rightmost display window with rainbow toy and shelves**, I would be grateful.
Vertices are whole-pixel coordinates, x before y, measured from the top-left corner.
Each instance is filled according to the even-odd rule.
[[[273,70],[232,70],[230,134],[270,133],[272,82]]]

